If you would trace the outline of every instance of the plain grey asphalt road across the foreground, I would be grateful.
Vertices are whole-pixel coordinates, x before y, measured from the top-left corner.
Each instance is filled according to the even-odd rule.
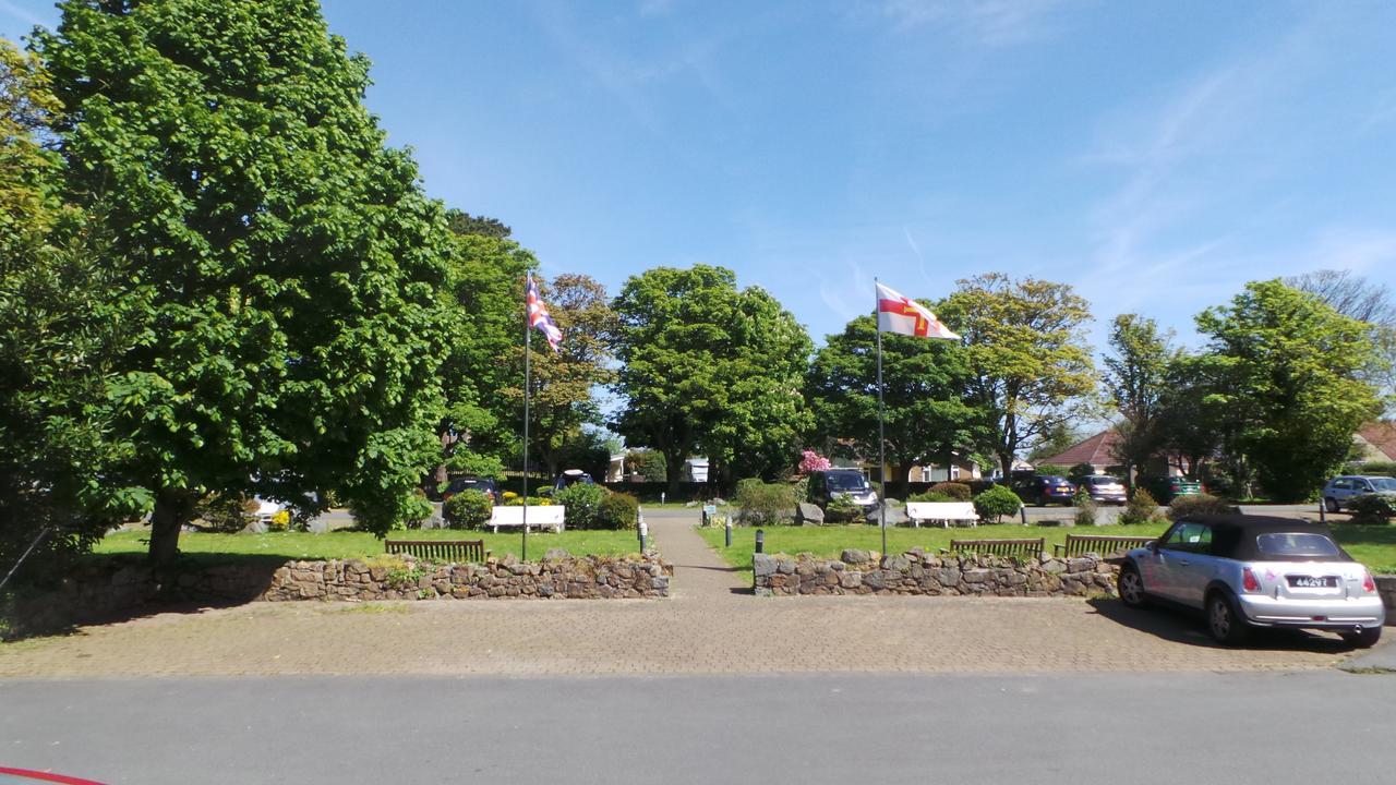
[[[0,682],[0,765],[103,782],[1386,784],[1396,676]]]

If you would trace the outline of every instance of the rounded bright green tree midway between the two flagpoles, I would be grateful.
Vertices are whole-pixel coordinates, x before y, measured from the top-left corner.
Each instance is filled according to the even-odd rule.
[[[631,277],[613,309],[620,321],[616,430],[664,455],[677,492],[684,458],[702,451],[709,476],[773,476],[810,425],[801,395],[812,344],[759,288],[705,264]]]

